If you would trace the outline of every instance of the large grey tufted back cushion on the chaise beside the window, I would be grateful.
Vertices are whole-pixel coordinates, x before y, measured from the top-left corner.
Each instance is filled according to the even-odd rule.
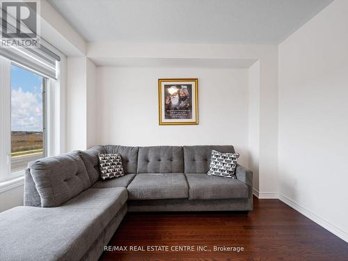
[[[58,207],[90,187],[84,161],[77,152],[29,163],[42,207]]]

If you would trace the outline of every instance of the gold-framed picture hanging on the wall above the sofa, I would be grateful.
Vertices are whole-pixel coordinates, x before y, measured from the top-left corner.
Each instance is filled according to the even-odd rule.
[[[198,124],[198,79],[159,79],[159,125]]]

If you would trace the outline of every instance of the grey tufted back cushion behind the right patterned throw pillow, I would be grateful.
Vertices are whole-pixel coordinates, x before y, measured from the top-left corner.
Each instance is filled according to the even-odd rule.
[[[184,173],[207,173],[212,150],[235,153],[235,148],[232,145],[184,146]]]

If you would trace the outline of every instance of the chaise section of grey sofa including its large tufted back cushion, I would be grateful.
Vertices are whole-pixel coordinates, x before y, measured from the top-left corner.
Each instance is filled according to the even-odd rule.
[[[0,214],[1,228],[16,223],[15,236],[9,232],[10,238],[3,237],[3,242],[14,244],[17,240],[22,244],[16,246],[17,250],[11,250],[11,244],[4,243],[0,260],[99,258],[102,246],[109,242],[127,213],[128,191],[125,187],[90,187],[97,180],[93,180],[93,171],[88,164],[87,171],[80,155],[75,151],[29,164],[25,171],[26,207]],[[10,216],[15,219],[19,216],[18,222],[10,221]],[[29,254],[20,251],[22,245],[27,247],[24,251]],[[14,250],[17,253],[13,253]],[[17,258],[5,256],[6,253],[17,255]]]

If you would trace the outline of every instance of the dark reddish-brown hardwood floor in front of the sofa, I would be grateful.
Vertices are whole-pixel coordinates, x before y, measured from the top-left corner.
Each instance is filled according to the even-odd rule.
[[[127,213],[100,260],[348,260],[348,244],[280,200],[254,198],[254,210],[232,212]],[[145,251],[130,250],[143,246]],[[168,251],[146,251],[169,246]],[[194,246],[175,251],[172,246]],[[206,251],[198,251],[206,246]],[[214,251],[214,246],[244,251]],[[209,248],[209,249],[207,249]],[[210,251],[209,251],[210,250]]]

